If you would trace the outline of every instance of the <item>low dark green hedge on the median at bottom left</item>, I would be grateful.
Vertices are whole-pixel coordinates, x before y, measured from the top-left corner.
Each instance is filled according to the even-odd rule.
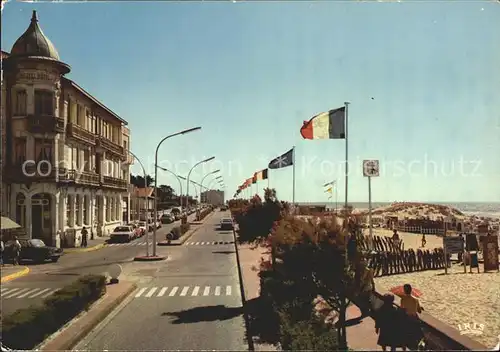
[[[32,350],[105,292],[104,276],[83,276],[47,297],[40,306],[22,308],[4,317],[2,343],[12,349]]]

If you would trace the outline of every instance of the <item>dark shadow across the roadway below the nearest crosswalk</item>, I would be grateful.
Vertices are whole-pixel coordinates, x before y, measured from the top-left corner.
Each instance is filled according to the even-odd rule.
[[[173,324],[190,324],[202,321],[228,320],[243,314],[242,307],[224,305],[196,307],[179,312],[165,312],[162,316],[175,317]]]

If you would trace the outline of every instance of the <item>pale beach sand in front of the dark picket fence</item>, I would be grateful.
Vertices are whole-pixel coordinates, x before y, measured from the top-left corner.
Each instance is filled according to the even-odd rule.
[[[444,269],[430,270],[376,278],[375,284],[380,293],[411,284],[422,291],[426,312],[456,329],[458,324],[484,324],[482,335],[470,337],[492,349],[500,338],[500,273],[484,273],[482,265],[480,271],[464,274],[462,266],[454,265],[448,275]]]

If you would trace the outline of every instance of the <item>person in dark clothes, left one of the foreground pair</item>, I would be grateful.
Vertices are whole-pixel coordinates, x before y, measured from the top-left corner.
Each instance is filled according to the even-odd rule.
[[[382,307],[377,311],[375,318],[375,333],[378,335],[377,344],[382,347],[383,351],[387,351],[387,347],[391,351],[396,351],[396,348],[405,349],[405,344],[401,336],[401,313],[394,307],[394,296],[385,294],[382,297]]]

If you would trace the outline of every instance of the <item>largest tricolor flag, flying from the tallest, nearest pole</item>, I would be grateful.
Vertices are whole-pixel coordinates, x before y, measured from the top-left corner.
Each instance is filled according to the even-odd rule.
[[[345,106],[304,121],[300,134],[304,139],[345,139]]]

